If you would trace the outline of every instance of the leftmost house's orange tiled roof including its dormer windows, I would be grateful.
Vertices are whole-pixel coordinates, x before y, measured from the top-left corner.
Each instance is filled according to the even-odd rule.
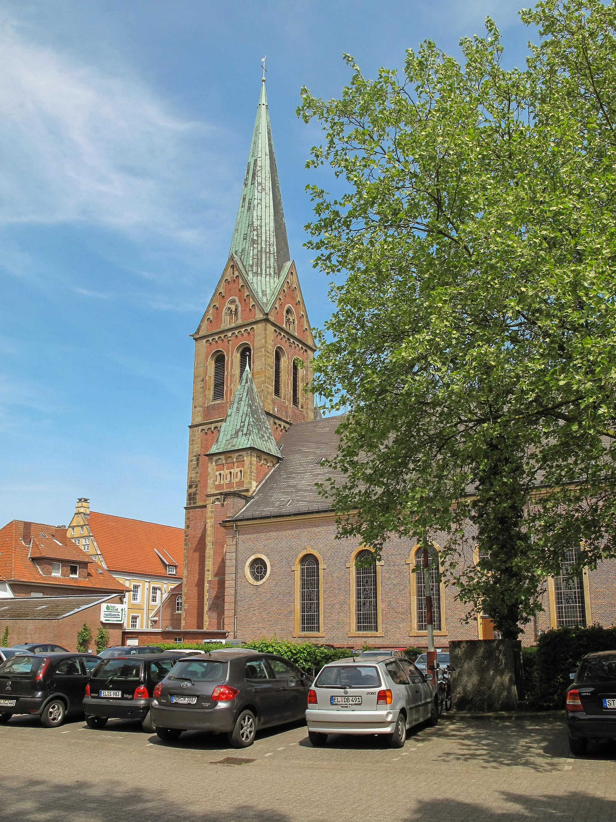
[[[0,529],[0,597],[124,591],[121,580],[67,542],[66,528],[12,520]]]

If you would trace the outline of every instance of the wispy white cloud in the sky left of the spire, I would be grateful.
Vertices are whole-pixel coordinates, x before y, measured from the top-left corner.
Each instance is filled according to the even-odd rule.
[[[86,221],[206,242],[202,227],[214,228],[228,189],[214,129],[121,70],[110,76],[2,26],[0,226]]]

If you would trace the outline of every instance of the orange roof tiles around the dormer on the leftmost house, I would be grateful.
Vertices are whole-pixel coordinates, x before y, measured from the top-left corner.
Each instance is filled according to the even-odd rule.
[[[87,579],[43,575],[36,559],[85,562],[88,564]],[[62,588],[126,590],[108,570],[99,566],[98,562],[92,562],[80,548],[67,540],[66,528],[24,520],[11,520],[0,529],[0,580],[61,585]]]

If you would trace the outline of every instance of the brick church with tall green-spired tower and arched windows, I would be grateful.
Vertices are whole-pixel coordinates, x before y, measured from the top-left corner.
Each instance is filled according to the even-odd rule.
[[[265,81],[228,261],[192,336],[182,629],[425,647],[416,544],[391,539],[381,561],[357,567],[370,547],[335,539],[335,515],[315,487],[331,475],[323,460],[337,449],[339,420],[321,418],[304,389],[315,341],[288,247]],[[464,621],[466,607],[436,570],[432,582],[439,646],[494,636],[487,617]],[[563,566],[522,640],[534,644],[549,627],[614,624],[614,593],[613,561],[579,578]]]

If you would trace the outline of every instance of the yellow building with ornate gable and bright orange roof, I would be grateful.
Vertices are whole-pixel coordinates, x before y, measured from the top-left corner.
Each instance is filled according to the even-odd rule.
[[[129,589],[127,628],[165,628],[159,605],[182,582],[183,529],[90,511],[81,496],[67,528],[71,541]]]

